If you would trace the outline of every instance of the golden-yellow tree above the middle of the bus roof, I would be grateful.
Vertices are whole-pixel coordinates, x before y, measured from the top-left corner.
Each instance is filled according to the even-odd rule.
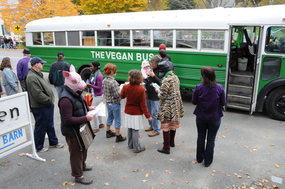
[[[80,9],[85,15],[139,12],[147,7],[147,0],[81,0]]]

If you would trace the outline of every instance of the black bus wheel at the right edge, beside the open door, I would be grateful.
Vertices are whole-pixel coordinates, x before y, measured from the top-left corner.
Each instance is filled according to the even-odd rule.
[[[285,121],[285,87],[273,89],[266,97],[265,106],[272,118]]]

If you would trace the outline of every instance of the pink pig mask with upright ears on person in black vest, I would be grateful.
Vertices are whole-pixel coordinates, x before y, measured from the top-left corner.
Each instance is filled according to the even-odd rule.
[[[69,87],[72,91],[82,91],[85,89],[86,83],[82,81],[80,75],[76,73],[73,65],[70,66],[70,72],[62,71],[63,77],[65,78],[64,85]]]

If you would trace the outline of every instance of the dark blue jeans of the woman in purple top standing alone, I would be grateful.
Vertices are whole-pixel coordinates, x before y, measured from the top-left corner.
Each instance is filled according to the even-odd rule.
[[[197,153],[198,162],[204,160],[205,165],[210,165],[213,161],[215,138],[221,125],[221,118],[216,120],[202,120],[196,117],[196,126],[198,130]],[[205,139],[207,135],[207,144],[205,148]]]

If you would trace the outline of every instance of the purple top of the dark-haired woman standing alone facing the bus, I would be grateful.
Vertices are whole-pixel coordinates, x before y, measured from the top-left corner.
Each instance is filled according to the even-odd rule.
[[[216,120],[223,117],[221,106],[227,103],[223,86],[213,88],[198,84],[192,95],[192,103],[197,105],[193,114],[202,120]]]

